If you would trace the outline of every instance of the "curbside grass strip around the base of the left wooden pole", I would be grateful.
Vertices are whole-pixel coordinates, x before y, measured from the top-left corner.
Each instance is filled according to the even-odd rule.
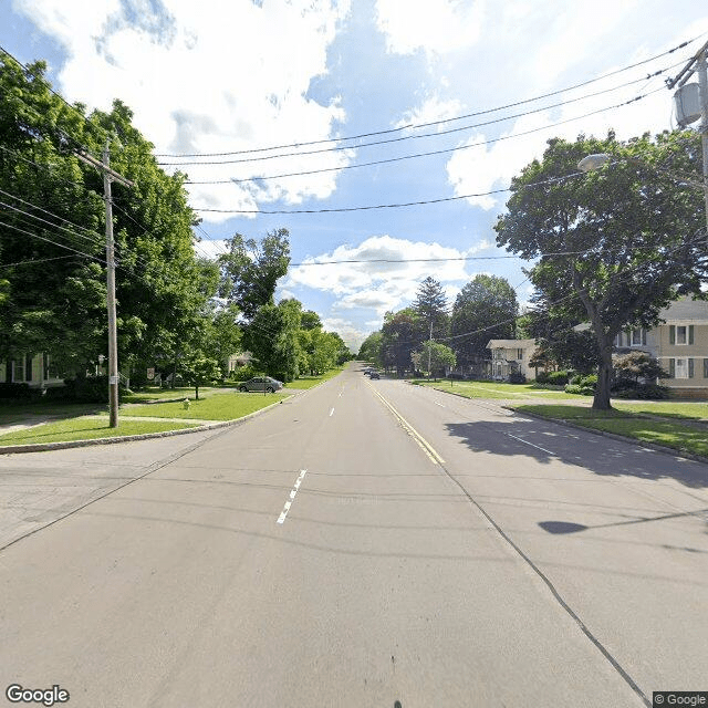
[[[66,442],[70,440],[93,440],[95,438],[114,438],[124,435],[143,435],[146,433],[164,433],[194,428],[196,424],[175,423],[170,420],[118,420],[117,428],[108,426],[108,418],[69,418],[46,423],[33,428],[14,430],[0,435],[0,447],[4,445],[37,445],[41,442]]]

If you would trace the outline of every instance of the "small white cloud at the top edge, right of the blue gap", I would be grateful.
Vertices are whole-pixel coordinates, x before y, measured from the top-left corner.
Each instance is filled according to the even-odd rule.
[[[485,17],[483,0],[378,0],[378,29],[389,52],[436,54],[475,44]]]

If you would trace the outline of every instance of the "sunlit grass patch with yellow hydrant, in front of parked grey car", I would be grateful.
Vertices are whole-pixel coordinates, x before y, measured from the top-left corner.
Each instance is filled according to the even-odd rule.
[[[123,418],[148,416],[155,418],[196,418],[199,420],[233,420],[242,418],[249,413],[260,410],[272,403],[282,400],[287,394],[214,394],[208,398],[190,400],[189,408],[185,408],[181,402],[156,403],[145,406],[131,406],[123,408]]]

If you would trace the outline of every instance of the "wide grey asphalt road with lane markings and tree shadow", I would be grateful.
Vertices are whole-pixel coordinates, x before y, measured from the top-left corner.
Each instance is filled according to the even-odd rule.
[[[358,369],[169,451],[0,459],[3,693],[606,708],[708,690],[707,466]],[[75,470],[101,492],[22,525],[18,480]]]

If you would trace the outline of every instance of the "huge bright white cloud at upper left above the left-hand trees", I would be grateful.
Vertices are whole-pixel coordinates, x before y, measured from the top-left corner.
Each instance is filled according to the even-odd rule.
[[[344,118],[337,100],[320,105],[305,94],[311,80],[326,72],[326,50],[348,12],[346,0],[263,0],[262,7],[219,0],[24,0],[15,11],[65,49],[59,81],[66,97],[104,111],[119,97],[135,111],[134,124],[156,153],[226,153],[322,139]],[[337,153],[192,165],[184,171],[198,181],[248,178],[341,167],[350,158]],[[336,174],[258,186],[194,185],[191,201],[215,209],[257,209],[275,199],[323,199],[335,189]],[[226,218],[209,215],[210,221]]]

